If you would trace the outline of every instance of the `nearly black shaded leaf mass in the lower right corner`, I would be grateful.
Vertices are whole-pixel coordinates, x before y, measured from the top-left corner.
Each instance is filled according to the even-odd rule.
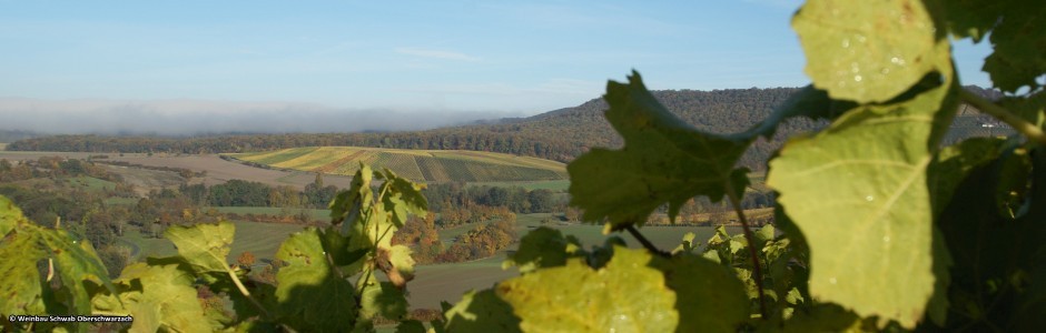
[[[1046,289],[1040,284],[1046,276],[1046,246],[1042,242],[1046,238],[1046,172],[1042,172],[1046,154],[1035,149],[1030,157],[1035,172],[1027,214],[1014,220],[999,213],[994,189],[1005,170],[1001,159],[971,172],[941,214],[938,225],[955,258],[954,306],[978,313],[968,323],[963,322],[964,316],[954,316],[947,329],[1017,332],[1046,324],[1042,315],[1046,313]],[[985,286],[994,287],[984,291]]]

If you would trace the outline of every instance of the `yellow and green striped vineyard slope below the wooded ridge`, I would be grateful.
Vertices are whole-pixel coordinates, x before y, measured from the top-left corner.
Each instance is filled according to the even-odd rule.
[[[375,170],[388,168],[396,174],[423,182],[557,181],[534,184],[553,188],[563,188],[566,182],[563,163],[492,152],[310,147],[228,155],[278,169],[342,175],[356,173],[363,162]]]

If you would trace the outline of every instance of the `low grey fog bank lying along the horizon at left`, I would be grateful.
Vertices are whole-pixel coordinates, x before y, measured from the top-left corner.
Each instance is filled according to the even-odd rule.
[[[409,131],[519,117],[499,112],[341,110],[306,103],[0,99],[0,130],[45,134]]]

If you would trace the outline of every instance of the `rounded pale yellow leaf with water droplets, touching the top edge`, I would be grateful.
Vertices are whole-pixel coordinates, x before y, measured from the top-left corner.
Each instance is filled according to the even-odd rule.
[[[806,73],[833,99],[885,102],[949,58],[922,1],[809,0],[792,19]]]

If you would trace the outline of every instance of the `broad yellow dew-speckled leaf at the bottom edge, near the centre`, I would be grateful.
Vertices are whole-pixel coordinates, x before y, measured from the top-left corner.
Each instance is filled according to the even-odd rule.
[[[605,268],[580,261],[511,279],[496,286],[523,331],[671,332],[679,323],[675,293],[647,268],[643,250],[614,249]]]

